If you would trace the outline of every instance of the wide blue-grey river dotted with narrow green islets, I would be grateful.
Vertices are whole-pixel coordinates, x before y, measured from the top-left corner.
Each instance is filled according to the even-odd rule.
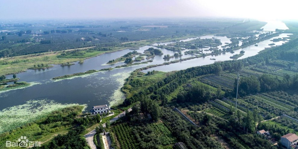
[[[266,24],[267,25],[267,24]],[[265,26],[264,26],[265,27]],[[275,27],[277,28],[277,27]],[[264,29],[267,30],[267,29]],[[278,37],[274,38],[283,38],[288,37],[289,33],[282,33]],[[212,38],[215,37],[216,39],[220,39],[222,44],[225,45],[225,42],[231,43],[227,37],[219,37],[214,35],[207,35],[201,36],[200,38]],[[183,41],[189,41],[196,38],[185,39]],[[240,57],[246,58],[253,55],[256,55],[259,51],[262,51],[265,48],[270,47],[268,44],[272,43],[268,39],[258,43],[259,46],[250,45],[246,48],[242,48],[236,50],[234,54],[238,54],[241,50],[244,50],[244,56]],[[159,43],[159,44],[169,44],[172,42],[166,43]],[[275,42],[276,45],[283,44],[283,41]],[[158,43],[154,43],[153,45],[157,45]],[[142,53],[144,50],[154,47],[154,46],[143,46],[140,49],[136,50]],[[219,46],[220,47],[220,46]],[[156,47],[154,47],[156,48]],[[203,48],[208,49],[208,48]],[[170,54],[173,55],[174,51],[169,51],[166,49],[162,49],[163,54]],[[92,57],[84,61],[82,64],[75,63],[75,65],[71,66],[64,66],[61,67],[60,65],[55,65],[54,67],[45,69],[45,70],[27,70],[23,73],[18,73],[17,77],[20,78],[19,81],[26,81],[26,82],[35,82],[36,85],[11,90],[8,92],[0,93],[0,110],[2,109],[9,109],[10,107],[16,105],[23,105],[26,104],[27,101],[38,101],[47,99],[49,101],[55,101],[61,104],[70,104],[70,103],[78,103],[78,104],[87,104],[87,110],[90,109],[94,105],[101,105],[101,104],[117,104],[121,103],[124,99],[123,93],[120,91],[123,83],[130,73],[141,67],[145,67],[147,65],[152,64],[161,64],[166,61],[173,61],[180,58],[192,57],[193,55],[183,55],[181,57],[174,57],[170,58],[169,60],[163,59],[163,55],[156,55],[152,58],[153,62],[148,64],[141,64],[132,67],[124,67],[119,69],[114,69],[110,71],[98,72],[93,73],[91,75],[74,77],[71,79],[64,79],[59,81],[53,81],[51,78],[57,76],[63,76],[66,74],[73,74],[79,72],[85,72],[87,70],[100,70],[103,68],[115,67],[119,65],[123,65],[123,62],[119,62],[112,65],[106,65],[109,60],[116,59],[126,53],[128,53],[129,49],[125,49],[123,51],[117,51],[113,53],[106,53],[102,54],[97,57]],[[204,51],[206,52],[206,51]],[[184,52],[182,52],[184,53]],[[234,55],[231,53],[220,54],[217,56],[207,56],[205,58],[195,58],[188,61],[183,61],[180,63],[165,65],[154,67],[149,70],[144,70],[146,73],[147,71],[151,70],[160,70],[160,71],[173,71],[173,70],[182,70],[189,67],[194,66],[202,66],[206,64],[213,64],[215,61],[225,61],[231,60],[229,57]],[[216,60],[210,60],[210,58],[215,58]],[[147,61],[147,60],[143,60]],[[7,78],[11,78],[12,75],[8,75]],[[1,113],[1,111],[0,111]]]

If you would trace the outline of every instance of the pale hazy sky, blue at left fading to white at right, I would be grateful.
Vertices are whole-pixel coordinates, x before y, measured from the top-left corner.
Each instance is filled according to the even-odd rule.
[[[298,19],[298,0],[0,0],[0,19]]]

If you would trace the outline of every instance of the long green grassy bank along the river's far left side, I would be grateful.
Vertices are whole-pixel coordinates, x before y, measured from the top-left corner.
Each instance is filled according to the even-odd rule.
[[[204,36],[204,35],[198,35],[198,36]],[[48,65],[65,64],[67,62],[73,63],[77,61],[84,61],[88,58],[96,57],[105,53],[111,53],[116,51],[122,51],[124,49],[139,48],[145,45],[151,45],[155,42],[170,42],[170,41],[188,39],[192,37],[197,37],[197,36],[190,35],[190,36],[181,36],[181,37],[174,37],[174,38],[168,38],[168,39],[151,39],[146,41],[136,41],[134,42],[134,44],[131,44],[131,42],[129,42],[126,44],[120,44],[118,46],[107,47],[110,49],[107,51],[85,52],[86,54],[81,57],[62,58],[58,56],[61,55],[61,53],[63,53],[64,51],[56,51],[56,52],[45,52],[40,54],[30,54],[30,55],[24,55],[24,56],[2,58],[0,59],[0,76],[25,72],[27,69],[32,68],[32,66],[42,64],[42,63],[48,64]],[[81,48],[81,49],[88,50],[90,48],[96,48],[96,47],[88,47],[88,48]]]

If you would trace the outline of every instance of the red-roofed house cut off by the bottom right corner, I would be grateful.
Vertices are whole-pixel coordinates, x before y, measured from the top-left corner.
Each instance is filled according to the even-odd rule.
[[[290,148],[298,148],[298,136],[294,133],[288,133],[281,137],[281,144],[285,146],[287,149]]]

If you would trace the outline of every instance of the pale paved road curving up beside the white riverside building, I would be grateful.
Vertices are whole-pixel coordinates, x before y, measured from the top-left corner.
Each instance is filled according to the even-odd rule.
[[[132,111],[132,108],[128,109],[128,112]],[[113,123],[116,120],[120,119],[120,117],[125,115],[125,111],[120,113],[119,115],[115,116],[114,118],[110,119],[110,122]],[[102,124],[103,127],[106,127],[106,123]],[[88,145],[92,148],[92,149],[97,149],[94,142],[93,142],[93,137],[95,135],[95,129],[93,129],[91,132],[88,132],[86,135],[84,135]]]

